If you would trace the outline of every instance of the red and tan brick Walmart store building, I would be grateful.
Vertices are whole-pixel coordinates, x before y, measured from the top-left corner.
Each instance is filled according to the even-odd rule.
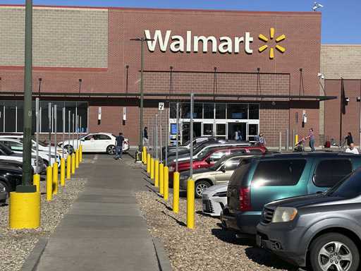
[[[158,103],[165,102],[162,117],[171,127],[179,101],[187,140],[193,92],[197,136],[233,138],[241,131],[254,140],[262,131],[267,145],[276,146],[279,132],[284,145],[286,129],[292,142],[293,131],[304,135],[314,128],[321,144],[326,137],[338,140],[342,76],[350,97],[343,129],[358,142],[361,47],[322,45],[321,16],[36,6],[33,96],[41,100],[42,133],[49,131],[47,103],[53,102],[58,116],[62,107],[78,107],[82,131],[121,131],[136,145],[140,43],[130,39],[149,37],[154,41],[145,44],[145,126],[154,125]],[[0,6],[0,133],[23,129],[24,18],[23,6]]]

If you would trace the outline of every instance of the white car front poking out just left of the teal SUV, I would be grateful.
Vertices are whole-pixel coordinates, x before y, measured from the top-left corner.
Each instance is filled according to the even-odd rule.
[[[226,184],[217,184],[210,186],[202,193],[203,213],[212,217],[219,217],[221,210],[227,204],[227,188]]]

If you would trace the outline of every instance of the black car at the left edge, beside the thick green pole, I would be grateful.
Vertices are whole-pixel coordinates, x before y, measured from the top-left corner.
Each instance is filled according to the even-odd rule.
[[[32,173],[34,173],[34,171]],[[1,200],[4,202],[8,193],[16,190],[16,186],[21,184],[22,177],[22,162],[0,159],[0,202]]]

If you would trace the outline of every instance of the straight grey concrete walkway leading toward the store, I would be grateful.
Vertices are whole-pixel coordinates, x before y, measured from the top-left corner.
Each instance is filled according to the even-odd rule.
[[[88,179],[85,191],[49,239],[37,271],[159,270],[134,195],[147,181],[130,159],[85,155],[76,172]]]

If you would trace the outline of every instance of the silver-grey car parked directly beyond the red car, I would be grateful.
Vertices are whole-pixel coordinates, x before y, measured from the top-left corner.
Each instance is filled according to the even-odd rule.
[[[193,150],[193,159],[197,159],[198,157],[201,157],[204,155],[204,153],[208,152],[210,149],[214,149],[216,147],[231,147],[231,146],[250,146],[250,143],[242,142],[242,141],[228,141],[228,140],[221,140],[220,142],[205,142],[201,143],[198,147],[196,147]],[[181,161],[187,161],[190,159],[190,153],[185,153],[183,155],[178,155],[178,162]],[[168,157],[169,163],[176,162],[176,156],[172,155],[171,157]]]

